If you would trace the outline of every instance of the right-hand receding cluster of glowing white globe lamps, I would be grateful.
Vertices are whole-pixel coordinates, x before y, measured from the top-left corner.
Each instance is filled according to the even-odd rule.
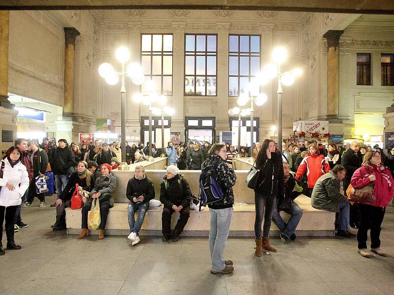
[[[272,52],[272,63],[268,63],[263,67],[263,70],[257,74],[256,77],[251,79],[248,83],[247,89],[244,93],[239,95],[237,99],[237,105],[239,107],[234,107],[229,110],[229,115],[250,116],[252,109],[241,109],[240,107],[245,106],[249,99],[252,99],[257,106],[262,106],[268,99],[265,93],[259,93],[260,86],[266,85],[269,80],[278,78],[280,83],[285,86],[291,86],[296,81],[296,77],[302,74],[301,69],[294,69],[293,71],[286,71],[283,74],[279,73],[279,66],[287,58],[286,49],[283,47],[277,47]],[[249,97],[249,93],[250,96]],[[253,98],[255,96],[255,98]]]

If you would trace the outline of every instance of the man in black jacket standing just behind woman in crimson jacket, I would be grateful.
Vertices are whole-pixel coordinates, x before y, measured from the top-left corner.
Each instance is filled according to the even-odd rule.
[[[350,180],[354,172],[361,167],[362,155],[359,152],[360,144],[356,141],[352,142],[350,148],[347,149],[342,157],[341,165],[346,169],[345,178],[343,178],[343,190],[346,195],[346,190],[349,187]],[[338,218],[337,218],[338,219]],[[357,203],[350,205],[350,226],[357,228]]]

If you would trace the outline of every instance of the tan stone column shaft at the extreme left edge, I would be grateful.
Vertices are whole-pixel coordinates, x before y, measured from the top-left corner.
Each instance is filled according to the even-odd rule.
[[[0,106],[11,109],[8,101],[8,30],[9,11],[0,11]]]

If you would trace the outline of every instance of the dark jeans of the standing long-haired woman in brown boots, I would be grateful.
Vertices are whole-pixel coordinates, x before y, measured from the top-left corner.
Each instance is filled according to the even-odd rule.
[[[272,220],[272,208],[276,201],[275,196],[262,195],[255,192],[255,207],[256,207],[256,220],[255,220],[255,235],[256,239],[262,238],[262,223],[263,225],[263,236],[269,235],[269,229],[271,228]],[[265,213],[264,213],[265,212]]]

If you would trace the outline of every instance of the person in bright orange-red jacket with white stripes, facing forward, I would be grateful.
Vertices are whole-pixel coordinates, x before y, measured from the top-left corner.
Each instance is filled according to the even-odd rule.
[[[296,180],[299,181],[304,174],[308,177],[309,197],[312,195],[313,187],[319,177],[330,171],[328,161],[324,155],[318,153],[316,144],[310,144],[307,154],[298,166]]]

